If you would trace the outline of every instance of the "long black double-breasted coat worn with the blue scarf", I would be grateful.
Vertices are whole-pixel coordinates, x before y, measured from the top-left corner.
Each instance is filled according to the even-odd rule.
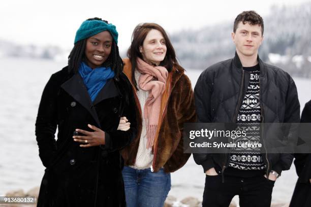
[[[136,135],[135,101],[124,74],[110,79],[94,102],[79,74],[68,67],[53,74],[42,94],[36,121],[39,156],[46,167],[38,206],[126,206],[119,150]],[[117,130],[121,116],[131,122]],[[76,128],[105,131],[104,146],[81,148]],[[54,134],[58,127],[57,141]]]

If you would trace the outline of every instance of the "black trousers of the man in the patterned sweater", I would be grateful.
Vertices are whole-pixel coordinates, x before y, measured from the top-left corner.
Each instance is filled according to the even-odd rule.
[[[274,181],[264,176],[239,178],[207,176],[203,193],[203,207],[228,207],[232,198],[239,195],[240,207],[270,207]]]

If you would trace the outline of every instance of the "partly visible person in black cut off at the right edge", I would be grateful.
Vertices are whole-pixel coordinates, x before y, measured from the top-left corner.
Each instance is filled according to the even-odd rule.
[[[311,123],[311,100],[307,102],[303,108],[301,123]],[[310,128],[307,130],[311,132]],[[308,134],[311,139],[311,134],[306,134]],[[311,206],[311,154],[295,154],[294,163],[298,175],[298,181],[293,193],[290,207]]]

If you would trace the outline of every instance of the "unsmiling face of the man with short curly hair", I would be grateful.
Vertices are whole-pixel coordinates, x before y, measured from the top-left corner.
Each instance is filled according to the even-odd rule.
[[[263,41],[261,26],[239,22],[235,32],[231,34],[236,51],[243,56],[256,56]]]

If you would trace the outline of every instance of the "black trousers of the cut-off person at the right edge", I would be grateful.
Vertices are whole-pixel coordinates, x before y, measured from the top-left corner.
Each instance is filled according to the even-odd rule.
[[[307,207],[311,205],[311,184],[297,181],[290,207]]]

